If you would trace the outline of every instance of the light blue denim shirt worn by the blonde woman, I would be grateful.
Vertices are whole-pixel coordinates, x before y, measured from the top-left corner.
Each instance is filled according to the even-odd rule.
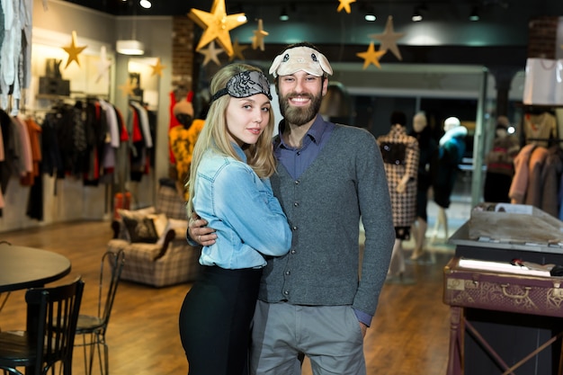
[[[273,196],[270,179],[260,179],[244,162],[208,150],[195,180],[193,208],[214,228],[217,240],[203,246],[200,263],[221,268],[262,268],[264,256],[286,254],[291,246],[288,220]]]

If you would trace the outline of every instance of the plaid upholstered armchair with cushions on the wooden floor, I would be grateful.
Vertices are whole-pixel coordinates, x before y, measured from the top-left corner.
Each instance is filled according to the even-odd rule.
[[[185,202],[174,181],[160,180],[156,207],[118,213],[108,250],[125,253],[121,280],[164,287],[196,278],[200,248],[186,241]]]

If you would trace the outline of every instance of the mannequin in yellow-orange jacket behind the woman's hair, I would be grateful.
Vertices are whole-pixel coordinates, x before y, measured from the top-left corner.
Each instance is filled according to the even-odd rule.
[[[175,178],[179,192],[187,200],[187,189],[184,184],[190,175],[192,152],[205,121],[193,119],[192,93],[174,104],[173,114],[179,125],[168,130],[170,150],[175,159]]]

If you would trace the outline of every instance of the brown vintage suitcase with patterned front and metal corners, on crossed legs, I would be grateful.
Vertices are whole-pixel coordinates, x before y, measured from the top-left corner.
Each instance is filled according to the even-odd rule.
[[[460,268],[459,262],[452,258],[444,267],[445,304],[563,317],[563,278]]]

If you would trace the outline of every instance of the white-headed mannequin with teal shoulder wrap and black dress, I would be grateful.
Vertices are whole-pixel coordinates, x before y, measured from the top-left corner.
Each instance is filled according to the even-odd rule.
[[[433,195],[438,205],[438,216],[433,229],[432,241],[438,237],[441,227],[445,238],[448,238],[448,217],[446,210],[450,207],[450,196],[457,177],[457,171],[465,153],[465,137],[467,128],[461,126],[457,117],[449,117],[443,123],[445,134],[438,142],[438,157],[433,165]]]

